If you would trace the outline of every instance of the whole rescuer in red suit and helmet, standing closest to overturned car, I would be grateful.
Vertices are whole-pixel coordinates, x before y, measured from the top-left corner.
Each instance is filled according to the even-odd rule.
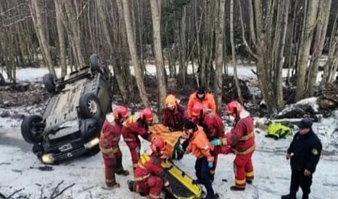
[[[119,148],[122,123],[128,118],[128,109],[124,106],[115,107],[113,117],[112,122],[107,119],[104,121],[99,141],[105,167],[105,183],[108,189],[120,187],[120,184],[116,182],[115,173],[124,176],[129,174],[123,169],[122,153]]]

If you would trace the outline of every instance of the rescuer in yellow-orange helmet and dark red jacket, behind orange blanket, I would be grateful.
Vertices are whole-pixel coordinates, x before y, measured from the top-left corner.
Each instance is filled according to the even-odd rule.
[[[182,131],[184,120],[188,118],[184,107],[177,103],[174,95],[167,96],[165,105],[163,125],[169,127],[171,131]]]

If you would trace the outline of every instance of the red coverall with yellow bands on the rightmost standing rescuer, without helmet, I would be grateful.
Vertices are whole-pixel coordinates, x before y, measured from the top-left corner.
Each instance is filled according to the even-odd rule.
[[[233,151],[236,154],[234,160],[236,187],[245,188],[246,180],[254,179],[251,157],[256,148],[254,122],[248,112],[245,115],[240,113],[239,121],[236,122],[231,132],[225,135],[222,142],[234,148]]]

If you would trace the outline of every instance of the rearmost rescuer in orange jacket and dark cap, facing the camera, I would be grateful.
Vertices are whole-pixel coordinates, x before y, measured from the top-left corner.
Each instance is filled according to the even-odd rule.
[[[198,88],[198,90],[189,97],[189,102],[187,105],[187,114],[189,117],[191,117],[192,108],[196,102],[200,102],[203,104],[204,108],[216,112],[214,96],[210,93],[207,93],[204,88]]]

